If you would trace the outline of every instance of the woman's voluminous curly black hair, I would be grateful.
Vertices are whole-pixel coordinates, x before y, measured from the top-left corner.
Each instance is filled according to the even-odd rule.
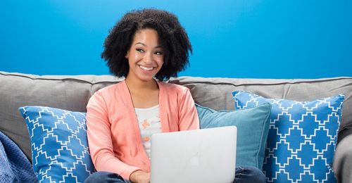
[[[127,77],[130,66],[125,58],[138,30],[151,28],[158,32],[158,41],[163,47],[164,63],[156,74],[158,80],[177,77],[189,66],[191,43],[177,17],[168,11],[148,8],[126,13],[112,28],[104,42],[101,53],[113,75]]]

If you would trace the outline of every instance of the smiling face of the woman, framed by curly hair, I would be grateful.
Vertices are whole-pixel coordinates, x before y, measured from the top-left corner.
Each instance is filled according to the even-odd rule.
[[[142,81],[153,80],[164,61],[163,49],[158,42],[158,32],[152,29],[138,30],[134,34],[126,58],[130,65],[127,77]]]

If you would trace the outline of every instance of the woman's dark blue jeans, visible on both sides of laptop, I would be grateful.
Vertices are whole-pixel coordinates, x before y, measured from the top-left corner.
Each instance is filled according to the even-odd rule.
[[[84,181],[85,183],[106,182],[106,183],[130,183],[129,180],[123,179],[120,175],[112,172],[94,172]],[[265,182],[265,175],[258,168],[254,167],[237,167],[234,182],[260,183]]]

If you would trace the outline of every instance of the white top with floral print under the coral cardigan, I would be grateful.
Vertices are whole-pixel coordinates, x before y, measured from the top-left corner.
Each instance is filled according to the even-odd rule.
[[[161,133],[159,105],[151,108],[134,108],[146,155],[151,158],[151,135]]]

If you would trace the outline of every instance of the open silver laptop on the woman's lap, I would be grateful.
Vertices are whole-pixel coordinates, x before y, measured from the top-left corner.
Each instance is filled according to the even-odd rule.
[[[237,127],[153,134],[151,183],[233,182]]]

